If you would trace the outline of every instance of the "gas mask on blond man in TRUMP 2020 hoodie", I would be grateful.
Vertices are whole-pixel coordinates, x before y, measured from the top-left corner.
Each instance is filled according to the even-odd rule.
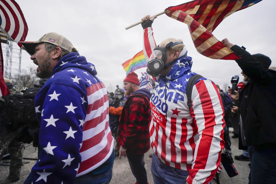
[[[181,44],[181,43],[183,43],[183,42],[180,42],[180,41],[175,42],[175,43],[170,42],[166,45],[166,47],[162,47],[162,46],[155,47],[152,54],[150,55],[149,62],[147,63],[147,73],[150,74],[151,76],[157,77],[163,69],[166,69],[170,65],[174,64],[177,60],[174,60],[174,61],[166,64],[167,49],[169,49],[175,45]],[[185,46],[184,46],[184,48],[185,48]],[[183,48],[183,50],[184,50],[184,48]],[[182,53],[182,51],[181,51],[181,53]],[[185,56],[186,55],[187,55],[187,52],[185,53]]]

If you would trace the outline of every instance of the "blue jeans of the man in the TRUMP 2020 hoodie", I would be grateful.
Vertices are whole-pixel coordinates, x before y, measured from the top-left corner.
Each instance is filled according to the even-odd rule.
[[[189,176],[189,171],[170,167],[161,162],[155,154],[152,155],[152,166],[150,169],[154,184],[185,184]]]

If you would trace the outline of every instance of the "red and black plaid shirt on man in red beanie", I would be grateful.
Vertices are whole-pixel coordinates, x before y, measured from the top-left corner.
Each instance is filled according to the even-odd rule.
[[[144,94],[131,95],[122,110],[118,148],[128,154],[141,155],[150,149],[150,101]]]

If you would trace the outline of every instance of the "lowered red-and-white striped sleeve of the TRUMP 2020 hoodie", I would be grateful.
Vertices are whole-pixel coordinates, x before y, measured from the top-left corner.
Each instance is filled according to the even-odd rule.
[[[221,96],[210,80],[200,80],[193,86],[191,117],[199,136],[187,178],[190,184],[209,183],[221,162],[224,148],[225,122]]]

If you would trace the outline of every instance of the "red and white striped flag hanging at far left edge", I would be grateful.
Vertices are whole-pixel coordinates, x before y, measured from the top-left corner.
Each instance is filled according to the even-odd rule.
[[[14,0],[0,0],[0,26],[1,30],[21,47],[20,41],[24,41],[28,26],[19,5]],[[3,53],[0,43],[0,97],[9,94],[9,90],[3,78]]]

